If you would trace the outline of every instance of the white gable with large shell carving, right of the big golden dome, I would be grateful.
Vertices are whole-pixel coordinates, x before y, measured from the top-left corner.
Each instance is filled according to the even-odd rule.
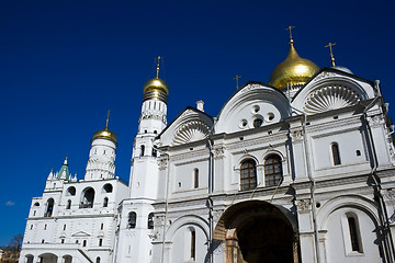
[[[295,94],[292,106],[313,115],[356,105],[360,101],[372,99],[375,92],[372,82],[327,68],[320,70]]]

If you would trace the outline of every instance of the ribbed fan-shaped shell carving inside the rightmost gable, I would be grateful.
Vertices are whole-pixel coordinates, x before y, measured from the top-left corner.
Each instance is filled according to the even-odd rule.
[[[308,114],[323,113],[356,105],[359,101],[360,96],[347,87],[325,87],[308,95],[304,111]]]

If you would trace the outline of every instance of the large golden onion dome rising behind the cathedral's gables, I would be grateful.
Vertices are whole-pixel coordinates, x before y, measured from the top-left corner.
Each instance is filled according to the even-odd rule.
[[[300,85],[306,83],[319,68],[313,61],[301,58],[291,41],[291,49],[285,60],[282,61],[272,72],[269,84],[282,89],[287,83]]]

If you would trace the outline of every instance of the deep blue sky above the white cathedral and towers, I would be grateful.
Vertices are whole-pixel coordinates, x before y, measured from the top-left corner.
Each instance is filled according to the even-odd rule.
[[[116,174],[128,181],[142,87],[158,55],[169,122],[198,100],[216,116],[236,75],[268,82],[289,52],[289,25],[301,57],[329,67],[324,46],[336,42],[337,64],[380,79],[392,103],[394,10],[380,0],[0,1],[0,245],[23,233],[32,197],[67,152],[83,176],[109,108]]]

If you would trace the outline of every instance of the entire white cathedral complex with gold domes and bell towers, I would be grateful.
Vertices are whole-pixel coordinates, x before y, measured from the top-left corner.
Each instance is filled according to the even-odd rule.
[[[339,263],[394,258],[393,126],[379,81],[319,69],[291,39],[269,84],[167,124],[144,85],[129,183],[97,132],[84,178],[67,160],[32,201],[20,263]]]

